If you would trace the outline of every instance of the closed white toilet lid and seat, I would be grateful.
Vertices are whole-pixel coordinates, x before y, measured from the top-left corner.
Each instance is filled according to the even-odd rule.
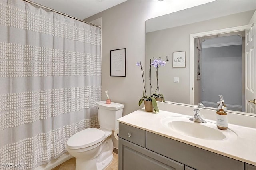
[[[84,129],[73,136],[67,141],[67,147],[72,149],[86,148],[97,144],[105,139],[105,132],[97,128]]]

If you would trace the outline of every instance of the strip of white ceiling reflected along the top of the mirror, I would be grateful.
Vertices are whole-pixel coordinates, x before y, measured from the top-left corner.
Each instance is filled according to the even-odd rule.
[[[256,0],[216,0],[146,20],[146,32],[182,26],[255,9]]]

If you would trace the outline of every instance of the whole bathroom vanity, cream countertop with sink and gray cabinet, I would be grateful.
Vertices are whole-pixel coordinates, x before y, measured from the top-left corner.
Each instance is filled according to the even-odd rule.
[[[212,133],[207,138],[207,134],[192,137],[164,126],[166,118],[170,122],[186,122],[186,118],[192,117],[192,110],[191,107],[191,115],[183,115],[162,110],[154,114],[140,109],[118,119],[119,170],[256,170],[255,128],[229,124],[229,129],[223,131],[216,128],[214,120],[206,119],[207,128],[216,128],[224,135]],[[204,129],[202,126],[196,128]],[[200,129],[193,131],[204,133]],[[221,138],[214,137],[218,135]]]

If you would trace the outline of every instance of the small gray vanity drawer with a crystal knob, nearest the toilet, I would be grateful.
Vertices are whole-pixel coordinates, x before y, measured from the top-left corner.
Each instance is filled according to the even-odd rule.
[[[139,146],[146,147],[146,131],[119,123],[119,137],[128,140],[132,143],[138,144]]]

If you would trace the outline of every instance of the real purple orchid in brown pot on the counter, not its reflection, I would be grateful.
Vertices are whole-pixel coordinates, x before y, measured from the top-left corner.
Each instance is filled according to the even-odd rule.
[[[143,71],[143,67],[141,65],[141,61],[136,63],[137,66],[140,66],[141,69],[141,74],[142,74],[142,80],[143,80],[143,85],[144,85],[144,89],[143,89],[143,97],[139,100],[139,106],[142,104],[143,101],[151,101],[152,102],[152,106],[153,109],[156,113],[158,113],[159,109],[157,107],[157,103],[156,103],[156,99],[154,97],[152,97],[151,95],[151,90],[150,90],[150,97],[147,96],[147,92],[146,92],[146,86],[145,86],[145,78],[144,78],[144,71]],[[150,65],[150,69],[151,69],[151,65]],[[150,75],[151,76],[151,75]],[[151,81],[151,80],[150,80]],[[150,83],[150,88],[151,87],[151,83]]]

